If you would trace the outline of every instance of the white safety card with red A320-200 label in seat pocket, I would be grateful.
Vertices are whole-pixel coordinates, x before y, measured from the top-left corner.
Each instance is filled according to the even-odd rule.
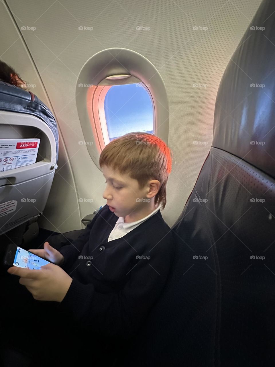
[[[36,162],[40,139],[0,139],[0,171]]]

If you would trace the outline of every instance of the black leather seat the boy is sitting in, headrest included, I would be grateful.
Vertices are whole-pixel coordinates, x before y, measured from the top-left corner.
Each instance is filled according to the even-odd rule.
[[[168,282],[117,366],[274,364],[274,22],[264,0],[224,72]]]

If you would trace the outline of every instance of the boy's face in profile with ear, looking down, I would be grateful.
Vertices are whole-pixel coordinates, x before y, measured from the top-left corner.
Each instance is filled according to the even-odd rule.
[[[107,185],[103,197],[107,200],[109,209],[117,217],[126,217],[131,213],[143,211],[148,208],[151,200],[154,203],[159,181],[150,180],[144,188],[140,189],[138,181],[128,174],[113,171],[112,168],[106,165],[102,167],[102,171]]]

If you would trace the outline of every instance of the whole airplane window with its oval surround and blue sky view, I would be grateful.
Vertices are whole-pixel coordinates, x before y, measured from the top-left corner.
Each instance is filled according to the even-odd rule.
[[[129,132],[147,132],[168,141],[164,81],[154,65],[135,51],[115,47],[89,58],[77,79],[76,106],[84,137],[79,144],[85,144],[99,169],[104,147]]]

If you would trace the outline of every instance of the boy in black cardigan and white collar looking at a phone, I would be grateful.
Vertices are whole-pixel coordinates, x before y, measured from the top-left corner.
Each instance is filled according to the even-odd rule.
[[[131,132],[111,141],[99,164],[107,204],[83,235],[59,251],[48,242],[44,250],[29,250],[54,263],[41,270],[8,269],[34,299],[58,302],[60,315],[89,333],[94,366],[104,366],[101,347],[113,360],[136,335],[164,288],[174,254],[171,229],[159,211],[172,167],[168,146]]]

